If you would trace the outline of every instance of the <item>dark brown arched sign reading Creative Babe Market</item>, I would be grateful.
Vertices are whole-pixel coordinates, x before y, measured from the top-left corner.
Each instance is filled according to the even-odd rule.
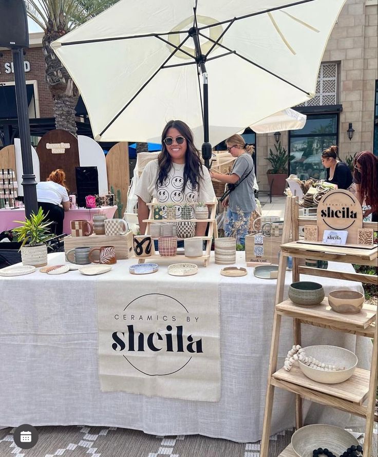
[[[80,165],[78,139],[65,130],[50,130],[41,138],[36,149],[41,181],[46,181],[53,170],[62,168],[69,192],[77,192],[75,167]]]

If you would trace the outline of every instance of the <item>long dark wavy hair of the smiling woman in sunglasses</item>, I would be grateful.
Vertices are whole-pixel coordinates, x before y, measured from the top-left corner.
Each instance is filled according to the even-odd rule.
[[[176,128],[186,140],[186,153],[185,153],[185,166],[184,166],[184,182],[182,185],[182,192],[184,192],[187,181],[190,181],[193,190],[199,189],[199,181],[203,176],[202,162],[199,157],[199,151],[193,143],[192,130],[182,121],[168,121],[161,134],[161,153],[158,156],[159,175],[156,180],[156,187],[158,184],[162,185],[169,170],[172,166],[172,159],[169,156],[164,139],[167,136],[169,128]]]

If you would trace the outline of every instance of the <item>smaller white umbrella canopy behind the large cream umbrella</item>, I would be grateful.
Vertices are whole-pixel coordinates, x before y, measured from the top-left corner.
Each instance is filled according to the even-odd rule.
[[[300,130],[306,124],[307,116],[295,109],[287,108],[250,125],[256,134],[269,134],[277,130]]]

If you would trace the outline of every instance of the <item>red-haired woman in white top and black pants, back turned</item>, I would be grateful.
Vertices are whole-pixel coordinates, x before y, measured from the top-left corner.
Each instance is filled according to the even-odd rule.
[[[62,169],[50,173],[47,181],[37,183],[38,205],[47,214],[51,224],[50,230],[55,235],[63,233],[64,212],[69,210],[69,198],[65,185],[66,174]]]

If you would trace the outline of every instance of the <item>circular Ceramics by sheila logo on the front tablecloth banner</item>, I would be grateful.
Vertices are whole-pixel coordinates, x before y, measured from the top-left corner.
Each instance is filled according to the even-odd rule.
[[[198,317],[169,295],[141,295],[116,319],[122,319],[123,326],[112,334],[111,348],[140,373],[177,373],[195,354],[203,352],[202,338],[195,334]]]

